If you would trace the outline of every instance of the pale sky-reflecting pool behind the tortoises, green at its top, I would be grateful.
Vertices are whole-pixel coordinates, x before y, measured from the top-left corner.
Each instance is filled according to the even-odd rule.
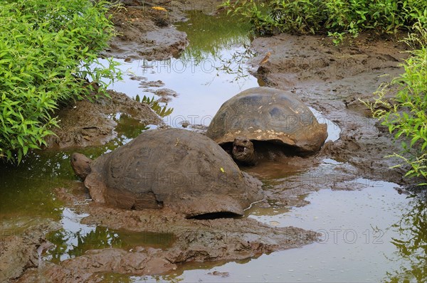
[[[130,75],[115,82],[114,90],[130,97],[155,97],[162,88],[177,93],[170,97],[167,107],[174,112],[164,117],[172,127],[209,125],[223,102],[242,90],[258,86],[256,78],[246,70],[246,60],[253,54],[248,50],[248,23],[224,14],[206,16],[193,12],[190,20],[179,23],[185,31],[189,46],[179,58],[169,60],[118,60],[123,72]]]

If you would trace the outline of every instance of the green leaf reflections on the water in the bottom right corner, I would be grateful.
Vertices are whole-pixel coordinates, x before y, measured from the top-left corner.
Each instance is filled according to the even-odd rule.
[[[391,243],[396,246],[399,261],[402,259],[407,265],[401,265],[400,270],[387,272],[386,282],[426,282],[427,278],[427,207],[426,198],[422,196],[408,196],[412,198],[411,210],[402,215],[401,220],[394,224],[401,238],[392,238]]]

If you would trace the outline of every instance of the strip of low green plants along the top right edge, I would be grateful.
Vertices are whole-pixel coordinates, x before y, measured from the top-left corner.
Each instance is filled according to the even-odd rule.
[[[420,21],[427,28],[425,0],[226,0],[222,6],[249,18],[255,33],[346,34],[374,30],[396,33]]]

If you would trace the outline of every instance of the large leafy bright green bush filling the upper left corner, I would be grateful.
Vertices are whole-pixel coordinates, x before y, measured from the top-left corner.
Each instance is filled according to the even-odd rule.
[[[95,90],[95,98],[107,95],[102,80],[120,78],[117,63],[97,62],[115,33],[106,16],[111,8],[105,0],[2,1],[0,159],[21,161],[53,134],[59,103]]]

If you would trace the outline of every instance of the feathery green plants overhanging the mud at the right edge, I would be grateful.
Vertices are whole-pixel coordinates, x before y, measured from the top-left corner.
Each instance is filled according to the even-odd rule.
[[[415,48],[409,51],[411,57],[403,65],[405,73],[379,87],[374,93],[375,102],[366,104],[395,139],[410,140],[401,142],[401,153],[391,155],[411,165],[406,176],[427,179],[427,29],[418,23],[414,30],[417,33],[411,33],[405,40]],[[390,94],[393,97],[387,99]]]

